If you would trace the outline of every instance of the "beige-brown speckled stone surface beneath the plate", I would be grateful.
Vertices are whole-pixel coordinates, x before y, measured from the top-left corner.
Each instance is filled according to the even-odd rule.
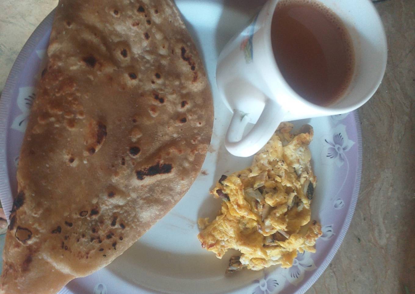
[[[0,91],[57,0],[0,0]],[[415,1],[376,4],[388,36],[381,87],[361,109],[363,178],[352,224],[307,293],[415,293]]]

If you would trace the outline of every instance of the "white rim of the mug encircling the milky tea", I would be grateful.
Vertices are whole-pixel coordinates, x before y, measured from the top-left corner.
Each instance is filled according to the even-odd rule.
[[[305,98],[301,97],[300,95],[298,95],[297,92],[295,92],[295,90],[293,90],[293,88],[287,83],[286,79],[283,77],[277,63],[275,60],[275,56],[273,53],[273,49],[272,49],[272,41],[271,41],[271,27],[272,27],[272,19],[273,19],[273,15],[274,12],[276,10],[276,6],[278,5],[278,2],[283,1],[283,0],[269,0],[269,2],[266,3],[266,5],[269,5],[268,9],[266,9],[267,15],[266,15],[266,19],[264,21],[264,44],[265,44],[265,48],[267,51],[268,56],[270,56],[271,58],[271,66],[268,67],[268,70],[272,70],[273,71],[273,75],[274,76],[278,76],[280,78],[280,80],[282,81],[282,83],[284,84],[284,86],[286,87],[286,89],[289,92],[290,97],[295,98],[296,100],[302,102],[303,104],[305,104],[308,107],[312,107],[318,111],[322,111],[322,112],[326,112],[327,115],[334,115],[334,114],[341,114],[341,113],[346,113],[346,112],[351,112],[359,107],[361,107],[363,104],[365,104],[376,92],[376,90],[378,89],[379,85],[381,84],[381,81],[383,79],[383,76],[385,74],[385,70],[386,70],[386,63],[387,63],[387,57],[388,57],[388,44],[386,41],[386,33],[385,33],[385,29],[383,27],[382,24],[382,20],[381,17],[379,16],[374,4],[370,1],[370,0],[364,0],[366,2],[368,2],[369,4],[369,12],[374,15],[375,17],[375,22],[377,23],[377,25],[380,28],[380,36],[379,39],[381,39],[381,42],[383,43],[384,46],[384,50],[382,51],[382,56],[381,56],[381,62],[382,62],[382,66],[381,66],[381,70],[378,71],[378,77],[376,78],[376,83],[374,84],[373,88],[368,92],[368,94],[365,97],[362,97],[361,100],[355,104],[352,104],[348,107],[332,107],[330,105],[327,106],[322,106],[319,104],[315,104],[312,103],[308,100],[306,100]],[[313,0],[316,2],[320,2],[319,0]],[[324,5],[324,4],[323,4]],[[271,92],[273,92],[272,88],[270,89]],[[340,97],[339,99],[345,98],[346,96]]]

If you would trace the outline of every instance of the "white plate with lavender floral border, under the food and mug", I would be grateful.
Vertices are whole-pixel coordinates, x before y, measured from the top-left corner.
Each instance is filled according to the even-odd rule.
[[[310,144],[317,187],[312,218],[322,224],[317,252],[299,254],[293,267],[243,270],[225,276],[228,253],[219,260],[202,249],[196,235],[199,217],[214,218],[220,200],[208,194],[222,174],[246,168],[251,158],[230,155],[223,138],[231,113],[218,96],[217,56],[226,42],[265,1],[177,0],[202,54],[212,85],[215,124],[200,175],[183,199],[124,254],[93,275],[71,281],[60,293],[303,293],[322,274],[349,227],[359,193],[361,134],[356,112],[295,121],[311,124]],[[16,194],[19,150],[35,85],[43,68],[54,12],[44,19],[20,52],[0,100],[0,198],[8,214]]]

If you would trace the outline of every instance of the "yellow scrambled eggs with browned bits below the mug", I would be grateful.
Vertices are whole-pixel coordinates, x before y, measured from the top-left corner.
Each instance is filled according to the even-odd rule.
[[[228,249],[242,253],[230,258],[226,272],[291,267],[297,252],[315,252],[322,231],[310,210],[316,185],[308,148],[313,129],[304,125],[296,135],[292,129],[280,124],[250,168],[222,175],[211,191],[222,207],[212,222],[198,220],[198,238],[217,258]]]

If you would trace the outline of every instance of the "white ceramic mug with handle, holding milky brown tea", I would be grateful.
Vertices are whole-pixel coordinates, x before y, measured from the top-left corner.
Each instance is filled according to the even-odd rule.
[[[273,55],[271,22],[279,1],[266,2],[218,58],[217,87],[233,112],[225,146],[235,156],[259,151],[281,121],[342,114],[360,107],[374,94],[385,72],[386,36],[374,5],[369,0],[319,0],[342,20],[350,34],[354,74],[342,97],[329,106],[300,97],[284,80]],[[247,123],[254,126],[244,136]]]

